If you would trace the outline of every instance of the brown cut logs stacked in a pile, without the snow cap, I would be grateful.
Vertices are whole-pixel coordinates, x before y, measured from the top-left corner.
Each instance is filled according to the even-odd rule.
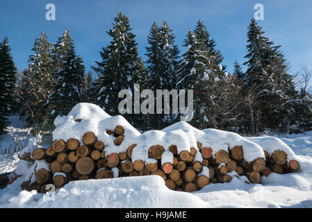
[[[106,130],[106,133],[115,137],[115,146],[122,144],[122,126]],[[81,141],[82,144],[75,138],[66,142],[58,139],[46,149],[36,148],[33,153],[24,154],[23,160],[45,160],[49,169],[36,169],[33,174],[35,182],[31,182],[33,180],[29,178],[22,183],[22,189],[35,189],[44,193],[47,191],[47,185],[52,183],[59,189],[73,180],[114,178],[116,168],[118,177],[158,175],[163,178],[169,189],[192,192],[209,183],[230,182],[231,171],[236,171],[238,176],[247,176],[252,183],[260,183],[261,176],[269,176],[272,172],[291,173],[299,169],[296,160],[287,162],[284,151],[275,151],[271,156],[265,152],[265,158],[260,157],[247,162],[244,160],[243,146],[233,146],[228,151],[213,153],[213,147],[202,146],[201,142],[197,142],[196,148],[191,147],[178,153],[174,144],[167,148],[155,144],[148,148],[148,156],[154,159],[154,162],[145,163],[143,160],[132,160],[132,151],[136,144],[120,153],[106,155],[105,142],[99,140],[94,133],[86,132]],[[165,150],[172,153],[172,162],[162,162]],[[198,156],[195,158],[195,155],[201,155],[202,159],[199,160]],[[208,173],[205,174],[204,171]]]

